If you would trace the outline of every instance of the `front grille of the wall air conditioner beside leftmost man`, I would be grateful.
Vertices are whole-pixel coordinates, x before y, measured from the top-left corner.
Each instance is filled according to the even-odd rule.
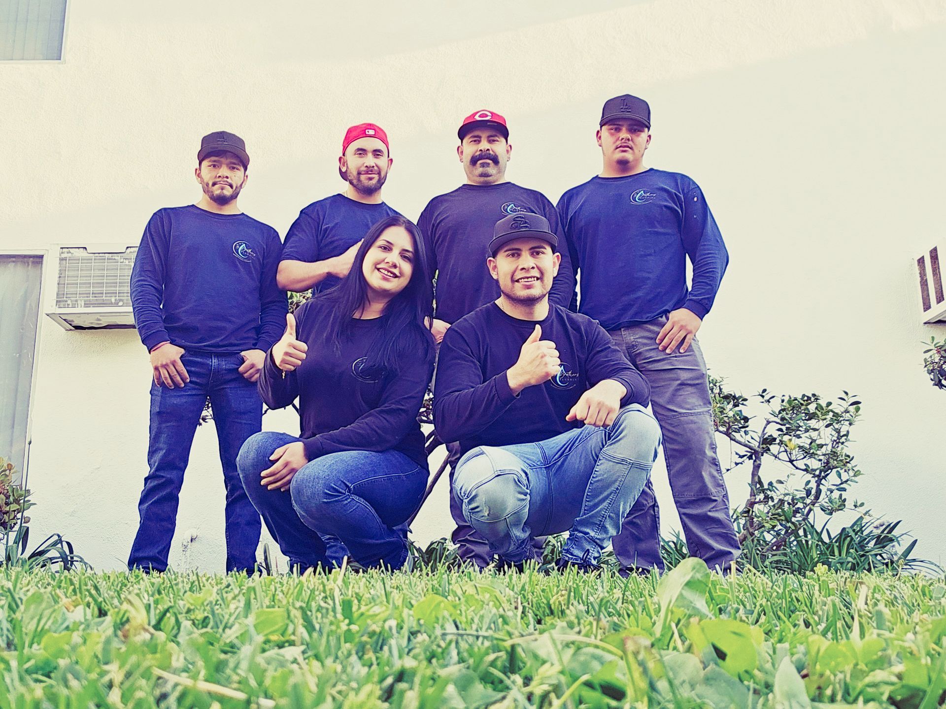
[[[131,266],[138,247],[116,253],[61,248],[56,307],[88,308],[131,305]]]

